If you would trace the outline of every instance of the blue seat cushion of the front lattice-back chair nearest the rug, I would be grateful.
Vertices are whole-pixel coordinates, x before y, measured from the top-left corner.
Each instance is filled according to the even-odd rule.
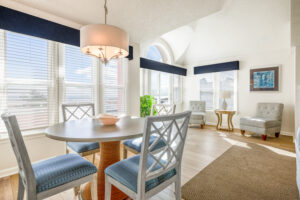
[[[140,155],[130,157],[126,160],[119,161],[107,167],[105,169],[105,174],[117,180],[118,182],[122,183],[132,191],[137,192],[139,162],[140,162]],[[147,168],[149,168],[153,164],[153,162],[154,162],[153,158],[149,156],[147,160]],[[159,168],[161,168],[161,166],[156,165],[153,168],[153,171]],[[146,182],[146,188],[145,188],[146,191],[155,188],[156,186],[163,183],[164,181],[172,178],[174,175],[176,175],[176,170],[172,169],[157,178],[148,180]]]

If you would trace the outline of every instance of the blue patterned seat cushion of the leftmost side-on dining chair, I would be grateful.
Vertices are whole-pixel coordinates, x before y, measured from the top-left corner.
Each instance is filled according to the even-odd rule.
[[[97,172],[95,165],[77,154],[50,158],[32,165],[37,193]]]

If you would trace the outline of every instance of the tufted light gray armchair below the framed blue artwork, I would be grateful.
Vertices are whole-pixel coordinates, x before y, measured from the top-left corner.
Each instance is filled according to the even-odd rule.
[[[279,137],[282,111],[282,103],[258,103],[254,117],[240,119],[241,133],[244,135],[245,131],[254,132],[260,134],[263,140],[270,134]]]

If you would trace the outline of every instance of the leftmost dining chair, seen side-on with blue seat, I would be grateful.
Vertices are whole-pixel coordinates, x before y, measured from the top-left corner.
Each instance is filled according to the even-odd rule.
[[[97,168],[77,154],[61,155],[31,164],[14,115],[2,114],[19,167],[18,200],[45,199],[91,181],[92,199],[97,200]]]

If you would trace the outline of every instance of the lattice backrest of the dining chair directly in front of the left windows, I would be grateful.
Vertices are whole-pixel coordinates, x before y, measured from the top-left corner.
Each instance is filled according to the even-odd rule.
[[[78,120],[95,115],[95,106],[93,103],[62,104],[64,122],[69,120]]]

